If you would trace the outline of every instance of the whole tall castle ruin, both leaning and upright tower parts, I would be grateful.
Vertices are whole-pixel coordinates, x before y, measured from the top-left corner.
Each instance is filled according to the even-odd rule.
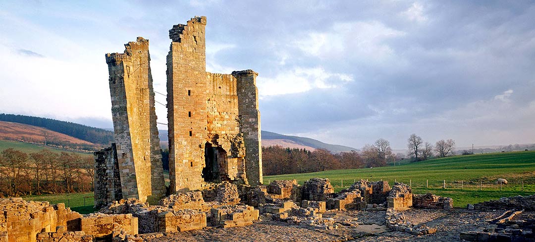
[[[260,113],[252,70],[206,71],[206,17],[169,31],[167,122],[170,193],[208,183],[262,184]],[[159,147],[149,41],[106,54],[115,143],[95,152],[95,205],[166,194]]]

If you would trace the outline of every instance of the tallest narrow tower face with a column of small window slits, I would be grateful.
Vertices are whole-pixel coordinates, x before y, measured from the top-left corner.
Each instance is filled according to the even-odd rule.
[[[167,124],[171,193],[198,190],[207,137],[206,17],[195,17],[169,31]]]

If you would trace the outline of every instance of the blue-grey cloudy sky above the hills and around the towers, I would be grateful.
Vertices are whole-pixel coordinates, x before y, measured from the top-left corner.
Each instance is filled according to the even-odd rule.
[[[0,2],[0,112],[112,127],[104,54],[149,39],[165,94],[169,29],[207,16],[207,71],[259,73],[263,130],[356,148],[535,142],[530,1],[75,2]]]

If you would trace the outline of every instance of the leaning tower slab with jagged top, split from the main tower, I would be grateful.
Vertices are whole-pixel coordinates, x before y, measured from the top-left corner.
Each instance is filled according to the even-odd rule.
[[[149,41],[137,37],[124,54],[106,54],[114,139],[124,198],[157,201],[165,195]]]

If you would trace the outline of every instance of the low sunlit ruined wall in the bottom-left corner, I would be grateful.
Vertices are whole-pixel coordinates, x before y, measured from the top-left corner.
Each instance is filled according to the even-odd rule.
[[[64,203],[52,206],[49,202],[21,198],[0,199],[0,239],[33,242],[37,233],[55,232],[57,226],[77,229],[80,216],[65,208]]]

